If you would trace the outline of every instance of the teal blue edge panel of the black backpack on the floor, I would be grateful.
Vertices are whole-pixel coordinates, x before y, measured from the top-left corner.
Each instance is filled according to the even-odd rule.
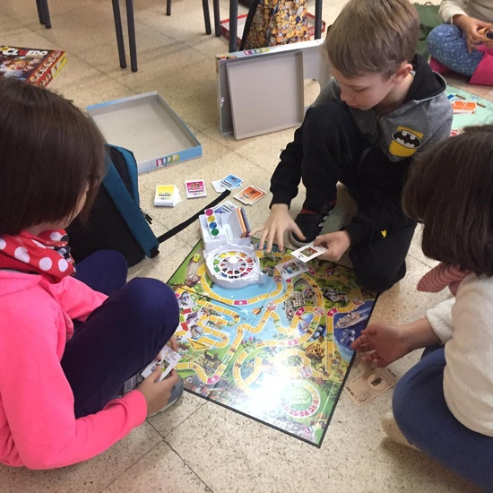
[[[129,174],[134,175],[134,179],[132,179],[133,190],[136,190],[136,192],[134,192],[134,198],[129,195],[117,169],[113,166],[108,155],[105,158],[108,173],[103,180],[103,185],[105,186],[108,195],[115,205],[117,205],[118,211],[125,220],[128,228],[132,231],[135,240],[143,249],[144,254],[152,258],[160,253],[159,241],[152,232],[147,221],[145,221],[143,213],[139,208],[139,193],[138,188],[136,188],[137,169],[136,166],[129,166],[129,159],[134,160],[134,157],[129,151],[122,148],[117,148],[117,150],[123,151],[122,154],[127,163],[128,172]]]

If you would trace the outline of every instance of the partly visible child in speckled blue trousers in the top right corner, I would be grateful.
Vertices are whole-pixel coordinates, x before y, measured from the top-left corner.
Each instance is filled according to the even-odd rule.
[[[471,84],[493,85],[493,0],[442,0],[446,22],[428,35],[433,70],[453,70],[471,77]]]

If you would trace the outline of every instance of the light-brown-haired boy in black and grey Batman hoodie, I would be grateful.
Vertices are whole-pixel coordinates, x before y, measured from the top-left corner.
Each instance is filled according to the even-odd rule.
[[[415,55],[419,19],[408,0],[350,0],[325,46],[333,80],[308,108],[271,180],[271,213],[261,242],[328,247],[337,261],[350,248],[359,284],[388,290],[406,272],[415,223],[401,207],[403,181],[416,151],[450,135],[453,112],[445,81]],[[307,188],[293,221],[290,201]],[[318,236],[341,181],[358,212],[341,231]]]

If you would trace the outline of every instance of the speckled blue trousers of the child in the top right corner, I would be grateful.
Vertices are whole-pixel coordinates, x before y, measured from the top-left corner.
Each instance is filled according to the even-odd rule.
[[[454,24],[440,24],[428,34],[428,51],[440,62],[457,74],[471,77],[484,53],[477,49],[467,50],[463,31]]]

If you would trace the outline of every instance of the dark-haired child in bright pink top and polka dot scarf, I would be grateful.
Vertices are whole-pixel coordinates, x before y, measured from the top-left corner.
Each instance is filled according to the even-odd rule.
[[[160,369],[135,390],[166,342],[177,299],[160,281],[125,284],[123,255],[75,269],[65,227],[87,217],[105,173],[104,140],[74,105],[0,78],[0,463],[78,463],[177,401]],[[126,390],[130,390],[125,393]],[[119,395],[124,394],[122,397]]]

